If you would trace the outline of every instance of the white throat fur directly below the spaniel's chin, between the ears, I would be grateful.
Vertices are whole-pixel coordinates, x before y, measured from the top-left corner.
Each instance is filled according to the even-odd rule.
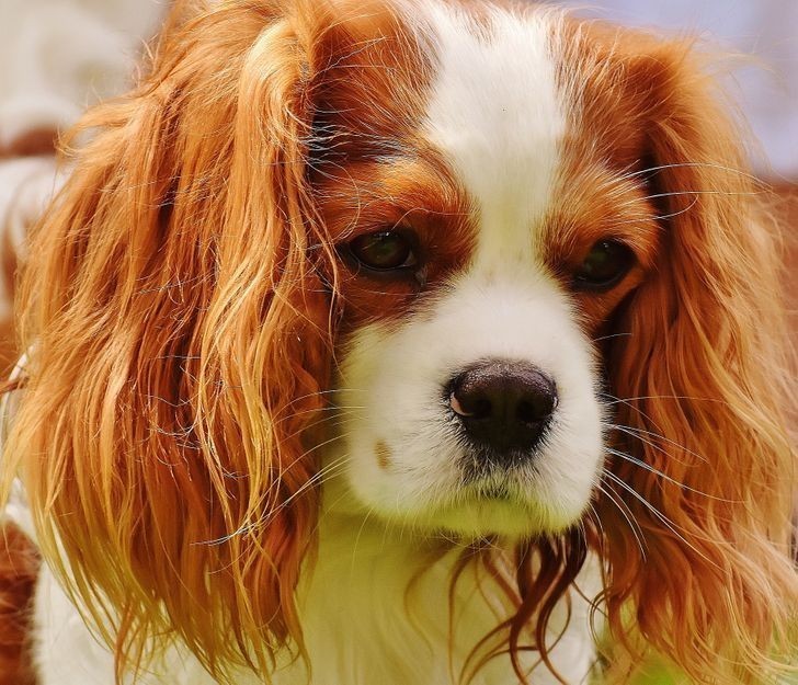
[[[475,648],[508,618],[510,600],[477,557],[466,561],[466,553],[464,545],[443,534],[421,535],[409,526],[386,524],[376,514],[322,507],[318,555],[299,595],[314,682],[468,682],[486,655],[485,649]],[[589,582],[590,573],[583,576]],[[579,683],[590,671],[593,638],[589,607],[572,595],[572,617],[552,658],[568,682]],[[567,613],[563,602],[551,620],[557,632]],[[521,660],[532,669],[538,654],[522,653]],[[470,682],[515,682],[509,657],[502,652],[489,660]],[[558,681],[540,667],[533,682]]]

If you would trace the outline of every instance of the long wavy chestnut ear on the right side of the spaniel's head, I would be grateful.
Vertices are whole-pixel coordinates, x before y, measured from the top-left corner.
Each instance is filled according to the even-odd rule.
[[[619,427],[604,487],[639,526],[605,503],[609,623],[691,682],[764,682],[778,670],[771,659],[795,657],[798,607],[777,242],[691,46],[642,46],[625,69],[629,96],[648,99],[638,173],[663,235],[607,353]]]

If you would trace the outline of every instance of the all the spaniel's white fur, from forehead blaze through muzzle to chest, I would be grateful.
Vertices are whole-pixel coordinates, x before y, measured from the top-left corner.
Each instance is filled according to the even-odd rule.
[[[451,10],[426,11],[440,60],[426,134],[475,201],[479,240],[472,262],[436,299],[400,324],[357,331],[344,355],[342,439],[324,455],[330,477],[318,562],[306,569],[298,596],[316,685],[458,682],[466,655],[508,607],[480,592],[469,569],[456,586],[451,632],[447,591],[457,550],[431,562],[435,535],[513,538],[573,524],[590,501],[603,449],[590,345],[536,244],[565,130],[549,15],[532,13],[522,22],[497,12],[494,38],[486,39]],[[513,494],[506,502],[479,500],[459,487],[460,447],[442,399],[454,374],[486,357],[533,363],[559,392],[536,467],[503,478]],[[378,441],[390,449],[389,468],[377,463]],[[20,502],[9,513],[26,517]],[[580,578],[586,596],[597,592],[597,580],[589,564]],[[571,620],[551,655],[575,685],[586,682],[594,649],[589,605],[577,593],[571,600]],[[566,628],[565,613],[563,604],[552,632]],[[47,569],[38,581],[35,624],[39,685],[113,683],[110,652]],[[536,685],[557,682],[535,667],[534,653],[522,661],[534,667]],[[213,683],[179,647],[152,670],[141,683]],[[273,677],[275,685],[307,681],[301,664],[283,666]],[[261,682],[251,674],[237,681]],[[516,682],[506,657],[472,681]]]

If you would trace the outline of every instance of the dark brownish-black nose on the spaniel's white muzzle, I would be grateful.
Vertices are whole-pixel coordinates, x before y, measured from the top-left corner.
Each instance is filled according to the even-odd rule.
[[[554,381],[524,362],[481,363],[449,387],[449,404],[466,434],[495,456],[532,452],[557,407]]]

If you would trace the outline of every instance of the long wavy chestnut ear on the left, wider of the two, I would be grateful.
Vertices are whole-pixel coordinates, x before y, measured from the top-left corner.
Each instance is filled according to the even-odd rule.
[[[299,5],[181,5],[33,238],[8,473],[119,670],[174,631],[219,676],[301,649],[332,332]]]

